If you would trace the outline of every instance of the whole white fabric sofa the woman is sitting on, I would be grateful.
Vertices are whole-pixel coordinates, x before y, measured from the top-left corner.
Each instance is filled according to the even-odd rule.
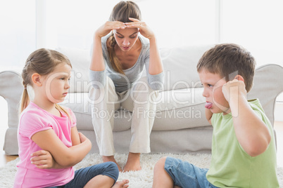
[[[156,119],[151,132],[151,152],[210,152],[212,126],[205,117],[203,88],[196,72],[201,55],[211,46],[182,46],[161,49],[165,71],[164,89],[160,91]],[[63,105],[77,117],[77,128],[92,140],[92,152],[99,152],[92,126],[89,106],[89,50],[58,48],[73,65],[70,93]],[[16,72],[0,73],[0,95],[8,102],[8,129],[4,150],[18,154],[18,103],[23,91],[22,79]],[[256,69],[254,84],[248,98],[259,98],[272,125],[275,99],[283,91],[283,68],[264,65]],[[115,112],[114,145],[118,153],[128,152],[130,145],[130,114],[123,109]]]

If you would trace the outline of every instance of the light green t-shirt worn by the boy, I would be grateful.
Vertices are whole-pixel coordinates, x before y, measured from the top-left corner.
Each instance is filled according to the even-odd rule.
[[[270,131],[268,149],[255,157],[246,154],[234,132],[232,115],[213,114],[212,158],[206,177],[216,187],[277,188],[275,137],[259,100],[249,104]]]

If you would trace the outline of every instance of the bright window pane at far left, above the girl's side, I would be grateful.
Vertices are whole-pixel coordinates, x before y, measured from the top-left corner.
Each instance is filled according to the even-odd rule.
[[[36,48],[35,1],[1,1],[0,22],[0,71],[20,72]]]

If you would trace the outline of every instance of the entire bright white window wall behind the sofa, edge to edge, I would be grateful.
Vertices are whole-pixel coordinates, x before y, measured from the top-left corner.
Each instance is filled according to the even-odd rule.
[[[239,43],[258,66],[283,66],[281,0],[136,0],[159,48]],[[22,66],[36,48],[84,48],[118,0],[1,1],[0,62]],[[13,68],[12,67],[12,68]]]

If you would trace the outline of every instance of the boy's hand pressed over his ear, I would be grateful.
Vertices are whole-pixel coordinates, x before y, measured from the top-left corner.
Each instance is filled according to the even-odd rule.
[[[222,86],[222,93],[225,99],[230,103],[230,100],[239,99],[239,97],[246,98],[246,86],[244,81],[234,79],[232,81],[227,81]]]

